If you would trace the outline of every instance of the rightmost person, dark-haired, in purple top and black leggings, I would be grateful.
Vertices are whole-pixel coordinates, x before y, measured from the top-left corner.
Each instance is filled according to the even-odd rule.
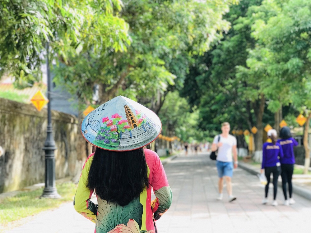
[[[294,172],[295,155],[294,146],[298,145],[298,142],[292,138],[290,128],[287,126],[283,127],[280,131],[280,138],[277,142],[280,143],[284,157],[280,159],[281,162],[281,177],[282,177],[282,188],[284,194],[284,205],[295,204],[295,200],[292,198],[293,185],[292,176]],[[288,183],[288,192],[290,199],[287,199],[286,183]]]

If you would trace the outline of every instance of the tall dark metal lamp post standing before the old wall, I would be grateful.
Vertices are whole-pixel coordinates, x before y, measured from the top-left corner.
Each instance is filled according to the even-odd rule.
[[[44,198],[60,198],[55,186],[55,157],[54,150],[56,150],[55,141],[53,138],[52,119],[51,119],[51,77],[49,66],[49,42],[46,43],[46,66],[48,78],[48,127],[47,137],[44,143],[45,151],[45,187],[41,197]]]

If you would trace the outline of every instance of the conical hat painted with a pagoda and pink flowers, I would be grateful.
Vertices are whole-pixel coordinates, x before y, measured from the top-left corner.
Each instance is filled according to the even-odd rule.
[[[161,128],[156,113],[124,96],[100,105],[81,124],[86,141],[112,151],[144,147],[159,136]]]

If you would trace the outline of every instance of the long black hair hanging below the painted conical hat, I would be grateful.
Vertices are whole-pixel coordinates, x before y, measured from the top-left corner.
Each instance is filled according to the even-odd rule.
[[[95,149],[87,187],[101,199],[125,206],[148,185],[143,148],[124,152]]]

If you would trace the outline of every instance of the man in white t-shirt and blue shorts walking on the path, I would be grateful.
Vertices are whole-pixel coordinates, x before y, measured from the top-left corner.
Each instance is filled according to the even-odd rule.
[[[217,200],[222,200],[222,190],[223,190],[223,181],[224,177],[227,184],[227,191],[229,194],[229,202],[232,202],[236,199],[232,195],[232,184],[231,178],[233,175],[233,168],[238,167],[238,153],[236,150],[236,138],[229,134],[230,124],[224,122],[221,124],[222,134],[216,135],[212,144],[212,151],[218,149],[216,166],[218,171],[218,191],[219,196]],[[232,160],[232,153],[234,162]]]

